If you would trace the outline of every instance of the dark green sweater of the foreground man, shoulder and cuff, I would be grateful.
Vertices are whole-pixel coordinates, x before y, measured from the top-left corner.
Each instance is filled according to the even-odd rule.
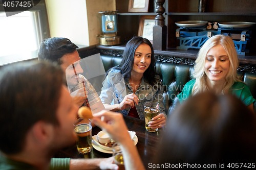
[[[70,158],[52,158],[49,169],[50,170],[68,170]],[[4,157],[0,154],[0,169],[1,170],[35,170],[36,168],[24,162],[18,162]]]

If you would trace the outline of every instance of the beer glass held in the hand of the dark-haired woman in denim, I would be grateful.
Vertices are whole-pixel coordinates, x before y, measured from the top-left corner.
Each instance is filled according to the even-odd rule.
[[[148,132],[156,132],[158,129],[152,129],[148,127],[148,122],[152,121],[152,118],[160,114],[160,106],[157,102],[146,102],[144,104],[144,116],[145,116],[145,127]]]

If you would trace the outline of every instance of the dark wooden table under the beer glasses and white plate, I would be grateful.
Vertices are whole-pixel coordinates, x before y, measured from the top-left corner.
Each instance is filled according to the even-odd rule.
[[[158,132],[147,132],[145,130],[144,120],[123,116],[126,126],[130,131],[135,131],[138,137],[137,149],[141,160],[146,169],[148,168],[148,163],[153,163],[154,157],[156,156],[157,145],[160,144],[161,136],[163,134],[162,128]],[[92,129],[92,135],[97,135],[101,131],[100,128],[94,127]],[[97,151],[92,148],[92,151],[88,154],[79,154],[76,149],[76,145],[60,150],[55,157],[56,158],[108,158],[112,154],[106,154]]]

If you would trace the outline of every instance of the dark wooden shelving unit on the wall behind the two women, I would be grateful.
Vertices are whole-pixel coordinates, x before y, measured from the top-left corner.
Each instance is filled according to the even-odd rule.
[[[127,12],[129,0],[116,0],[116,9],[119,11],[119,36],[121,42],[126,43],[133,36],[138,34],[140,16],[142,15],[157,15],[153,10],[150,12]],[[173,56],[181,58],[196,59],[198,50],[177,50],[179,45],[175,30],[177,26],[175,22],[182,20],[207,20],[209,22],[227,22],[227,21],[250,21],[256,22],[256,1],[246,0],[212,0],[207,1],[208,12],[198,12],[198,0],[165,0],[163,4],[165,12],[165,25],[167,26],[167,50],[155,51],[156,55]],[[210,12],[209,12],[210,11]],[[256,65],[256,27],[252,29],[250,44],[248,44],[249,54],[239,56],[241,64]],[[100,46],[97,48],[105,50],[123,50],[123,45],[117,46]]]

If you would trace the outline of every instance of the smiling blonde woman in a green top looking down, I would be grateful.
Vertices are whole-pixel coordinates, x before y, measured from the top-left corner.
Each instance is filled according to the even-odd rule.
[[[253,111],[253,99],[248,86],[237,77],[239,66],[236,48],[229,36],[216,35],[208,39],[198,53],[194,80],[187,82],[180,94],[179,102],[188,96],[204,91],[230,93],[237,96]]]

